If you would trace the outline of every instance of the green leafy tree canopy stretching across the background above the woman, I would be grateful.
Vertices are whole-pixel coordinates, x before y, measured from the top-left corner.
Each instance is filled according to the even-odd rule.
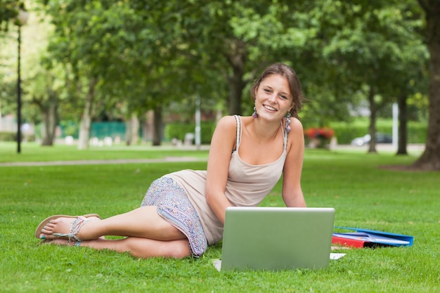
[[[428,107],[425,22],[413,0],[32,4],[32,13],[51,22],[53,34],[41,65],[29,65],[25,92],[34,105],[49,98],[58,102],[61,119],[79,120],[88,93],[92,113],[110,119],[141,117],[157,104],[166,109],[195,95],[207,101],[202,103],[207,112],[228,105],[228,112],[250,115],[250,82],[276,61],[291,65],[302,80],[309,99],[299,113],[304,124],[348,120],[349,106],[365,100],[369,89],[380,97],[377,108],[398,97],[409,98],[412,107]],[[51,31],[48,25],[41,31],[46,30]],[[13,96],[13,86],[6,91],[6,82],[1,85],[3,102]],[[29,105],[23,112],[38,122]],[[2,111],[13,107],[9,100]]]

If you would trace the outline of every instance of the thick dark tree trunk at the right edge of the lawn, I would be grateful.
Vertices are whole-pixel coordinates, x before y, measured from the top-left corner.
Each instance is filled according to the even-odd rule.
[[[425,10],[429,51],[429,119],[425,151],[414,167],[440,171],[440,1],[419,0]]]

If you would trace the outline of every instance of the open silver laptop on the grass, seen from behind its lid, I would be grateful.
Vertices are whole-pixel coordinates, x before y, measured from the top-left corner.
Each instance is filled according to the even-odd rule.
[[[220,271],[327,268],[335,209],[228,207]]]

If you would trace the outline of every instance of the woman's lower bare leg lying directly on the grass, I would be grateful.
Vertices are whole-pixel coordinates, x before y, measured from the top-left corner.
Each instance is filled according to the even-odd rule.
[[[56,245],[69,245],[65,239],[56,239],[52,242]],[[93,249],[110,249],[116,252],[130,252],[132,256],[140,258],[148,257],[174,257],[182,258],[190,256],[188,240],[160,241],[140,237],[127,237],[122,240],[87,240],[81,242],[81,246]]]

